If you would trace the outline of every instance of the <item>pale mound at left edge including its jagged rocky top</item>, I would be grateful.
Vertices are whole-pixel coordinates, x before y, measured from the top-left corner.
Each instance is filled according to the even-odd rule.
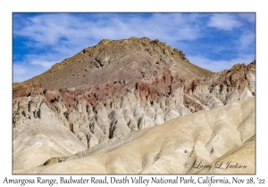
[[[71,156],[87,149],[77,136],[63,126],[39,95],[13,102],[13,170],[28,169],[59,156]]]

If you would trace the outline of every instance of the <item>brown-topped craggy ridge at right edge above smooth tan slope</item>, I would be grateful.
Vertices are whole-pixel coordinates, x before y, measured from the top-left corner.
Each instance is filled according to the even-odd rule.
[[[220,107],[255,95],[255,61],[247,66],[236,64],[205,78],[192,86],[192,94],[208,103]]]

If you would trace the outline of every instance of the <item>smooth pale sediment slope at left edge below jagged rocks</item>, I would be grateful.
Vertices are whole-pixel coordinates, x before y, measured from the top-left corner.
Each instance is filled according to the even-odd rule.
[[[38,118],[13,129],[13,172],[44,164],[47,159],[71,156],[87,149],[69,129],[41,104]]]

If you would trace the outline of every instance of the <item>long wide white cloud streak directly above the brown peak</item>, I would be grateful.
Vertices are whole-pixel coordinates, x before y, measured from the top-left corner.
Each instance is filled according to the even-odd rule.
[[[78,45],[80,42],[88,44],[89,40],[133,36],[163,37],[170,41],[192,40],[198,37],[199,32],[197,26],[183,19],[180,14],[156,13],[144,19],[140,16],[123,18],[122,15],[110,13],[100,19],[95,22],[71,14],[45,14],[29,19],[27,26],[14,30],[14,34],[29,37],[37,46],[42,46],[59,45],[61,39],[68,41],[68,44]]]

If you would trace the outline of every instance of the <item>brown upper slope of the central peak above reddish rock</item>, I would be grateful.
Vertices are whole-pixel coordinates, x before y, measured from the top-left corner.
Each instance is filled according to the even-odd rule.
[[[147,37],[131,37],[118,41],[102,40],[26,83],[33,81],[45,88],[74,87],[80,90],[108,81],[136,83],[163,75],[167,70],[186,80],[212,74],[190,63],[183,52],[172,46]]]

